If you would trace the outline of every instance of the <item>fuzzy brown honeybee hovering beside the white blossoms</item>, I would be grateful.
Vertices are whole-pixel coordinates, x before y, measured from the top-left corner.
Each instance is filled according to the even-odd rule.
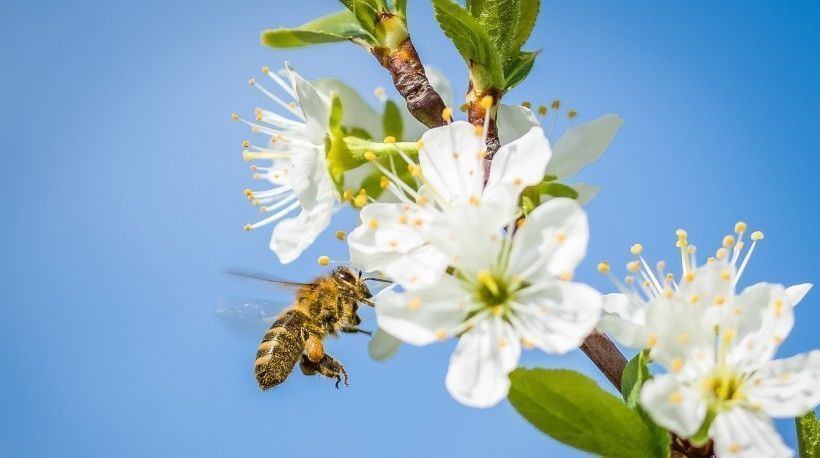
[[[274,319],[256,351],[253,367],[259,388],[268,390],[284,382],[297,362],[305,375],[336,379],[336,388],[342,381],[348,386],[347,371],[336,358],[325,353],[322,342],[325,337],[341,332],[370,334],[358,327],[362,322],[359,303],[373,306],[365,282],[381,280],[362,278],[361,272],[355,274],[347,267],[338,267],[310,283],[230,273],[295,292],[293,304]]]

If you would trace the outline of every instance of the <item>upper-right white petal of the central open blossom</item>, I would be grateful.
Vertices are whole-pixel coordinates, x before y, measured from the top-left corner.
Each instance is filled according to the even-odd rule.
[[[514,237],[510,271],[530,271],[525,280],[573,272],[584,258],[589,241],[589,223],[583,208],[572,199],[547,201],[527,216]],[[532,266],[546,268],[533,268]]]

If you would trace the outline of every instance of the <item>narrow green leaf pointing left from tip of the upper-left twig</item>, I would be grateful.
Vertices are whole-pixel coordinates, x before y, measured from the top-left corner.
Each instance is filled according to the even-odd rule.
[[[262,44],[271,48],[298,48],[353,38],[372,39],[353,14],[344,10],[322,16],[293,29],[264,30],[260,38]]]

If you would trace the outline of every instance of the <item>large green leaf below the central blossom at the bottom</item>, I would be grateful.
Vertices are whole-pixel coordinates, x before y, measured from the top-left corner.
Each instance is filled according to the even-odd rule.
[[[657,456],[641,417],[586,376],[563,369],[519,368],[510,380],[510,403],[554,439],[607,457]]]

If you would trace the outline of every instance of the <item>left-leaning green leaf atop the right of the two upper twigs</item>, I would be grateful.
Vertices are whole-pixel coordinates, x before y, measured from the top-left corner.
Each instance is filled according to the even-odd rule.
[[[484,26],[452,0],[433,0],[433,9],[444,34],[470,65],[470,74],[478,89],[504,87],[501,60]]]

